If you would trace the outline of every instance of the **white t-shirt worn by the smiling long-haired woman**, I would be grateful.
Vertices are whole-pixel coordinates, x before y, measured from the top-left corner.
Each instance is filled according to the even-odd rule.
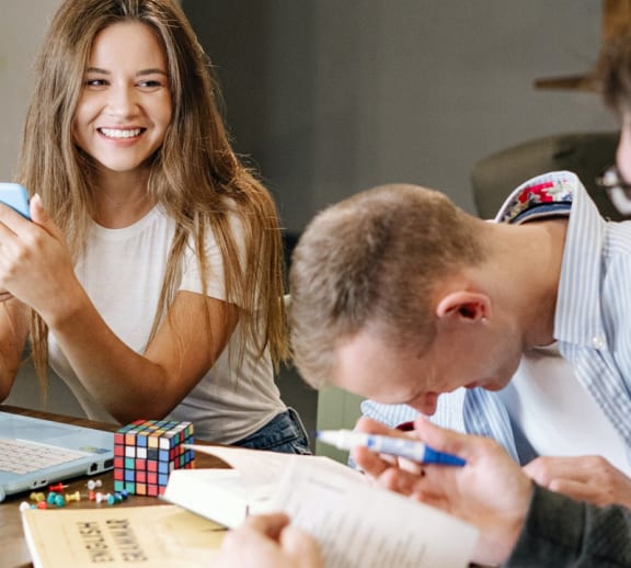
[[[240,225],[231,219],[239,239]],[[147,348],[154,319],[175,221],[160,207],[129,227],[106,229],[93,224],[85,253],[76,273],[94,306],[116,336],[138,353]],[[225,299],[223,263],[213,231],[208,231],[209,264],[207,295]],[[195,253],[187,248],[179,289],[202,293]],[[252,434],[286,409],[274,383],[269,354],[256,356],[245,345],[239,366],[230,366],[229,348],[237,349],[238,330],[215,365],[168,418],[194,422],[195,436],[230,444]],[[83,387],[53,333],[49,337],[50,366],[67,383],[89,418],[115,421]],[[229,361],[230,360],[230,361]],[[138,409],[138,419],[142,408]]]

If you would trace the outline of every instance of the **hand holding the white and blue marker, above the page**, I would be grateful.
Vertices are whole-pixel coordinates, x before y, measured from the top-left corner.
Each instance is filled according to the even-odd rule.
[[[375,434],[406,435],[367,418],[362,418],[356,428]],[[415,430],[408,435],[423,440],[434,450],[462,457],[467,465],[423,465],[413,473],[364,447],[354,450],[353,458],[378,485],[477,526],[481,535],[474,560],[485,565],[503,563],[524,525],[531,481],[491,439],[444,430],[423,418],[416,419]]]

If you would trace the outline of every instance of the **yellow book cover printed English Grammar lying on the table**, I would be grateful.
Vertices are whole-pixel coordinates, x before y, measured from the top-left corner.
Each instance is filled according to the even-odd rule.
[[[225,527],[176,505],[26,509],[35,568],[211,566]]]

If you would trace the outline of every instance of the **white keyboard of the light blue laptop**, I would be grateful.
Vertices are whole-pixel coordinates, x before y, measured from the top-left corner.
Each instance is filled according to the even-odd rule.
[[[72,462],[85,454],[25,440],[0,438],[0,472],[27,474],[44,467]]]

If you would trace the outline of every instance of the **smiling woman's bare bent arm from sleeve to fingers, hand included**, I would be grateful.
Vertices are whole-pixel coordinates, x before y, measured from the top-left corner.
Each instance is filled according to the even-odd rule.
[[[179,292],[145,354],[110,329],[77,279],[60,230],[37,196],[34,223],[0,209],[0,285],[47,323],[88,391],[118,421],[162,418],[213,366],[239,318],[238,308]],[[4,242],[8,245],[4,246]]]

